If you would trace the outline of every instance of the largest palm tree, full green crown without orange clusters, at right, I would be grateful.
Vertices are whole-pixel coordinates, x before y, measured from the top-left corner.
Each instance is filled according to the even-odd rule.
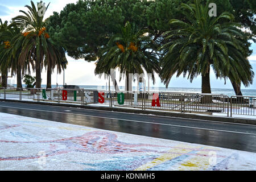
[[[164,34],[168,43],[160,47],[165,54],[161,61],[164,84],[168,86],[175,73],[177,77],[188,75],[191,82],[201,74],[202,93],[211,93],[210,67],[216,77],[250,84],[254,73],[241,46],[244,34],[238,29],[239,24],[232,23],[233,15],[210,17],[208,5],[200,5],[198,0],[193,5],[183,3],[181,8],[186,22],[170,20],[175,29]]]

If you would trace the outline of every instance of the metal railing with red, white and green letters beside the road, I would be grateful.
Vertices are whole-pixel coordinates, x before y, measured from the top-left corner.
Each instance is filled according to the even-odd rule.
[[[172,92],[108,92],[86,89],[0,88],[0,99],[128,109],[256,116],[256,97]]]

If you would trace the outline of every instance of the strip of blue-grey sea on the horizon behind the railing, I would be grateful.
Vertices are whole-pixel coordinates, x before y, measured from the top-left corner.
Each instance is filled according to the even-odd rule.
[[[16,86],[16,85],[13,85]],[[62,86],[62,85],[59,85]],[[97,85],[77,85],[80,88],[88,89],[88,90],[108,90],[109,88],[106,86],[97,86]],[[26,85],[23,85],[23,88]],[[42,85],[42,88],[46,88],[46,85]],[[52,85],[52,88],[56,88],[56,85]],[[124,86],[119,86],[120,90],[125,90]],[[114,90],[113,86],[110,86],[110,90]],[[133,90],[136,91],[137,87],[133,86]],[[148,88],[146,87],[146,90]],[[150,92],[160,91],[160,92],[176,92],[176,93],[201,93],[201,88],[165,88],[165,87],[150,87]],[[255,96],[255,89],[241,89],[243,96]],[[236,93],[233,89],[216,89],[212,88],[212,94],[223,94],[224,96],[236,96]]]

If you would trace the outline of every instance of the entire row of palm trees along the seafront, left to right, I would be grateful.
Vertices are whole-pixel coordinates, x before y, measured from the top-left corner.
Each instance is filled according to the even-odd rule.
[[[47,69],[47,88],[51,88],[51,74],[65,68],[65,50],[54,45],[47,33],[47,20],[38,14],[38,7],[31,1],[28,11],[13,18],[8,24],[0,20],[0,68],[2,86],[7,82],[8,70],[17,75],[17,87],[22,87],[21,77],[30,68],[36,72],[36,88],[41,87],[42,68]],[[47,6],[48,8],[48,6]],[[210,68],[217,78],[229,78],[237,95],[241,84],[249,86],[254,72],[247,60],[246,34],[240,25],[233,23],[233,15],[223,13],[217,17],[208,15],[208,6],[182,4],[185,20],[172,19],[172,30],[160,38],[162,45],[154,40],[154,32],[127,22],[117,35],[98,53],[95,73],[110,74],[119,71],[128,80],[129,73],[158,73],[166,86],[176,74],[193,79],[202,77],[202,93],[211,93]],[[154,74],[152,79],[155,81]],[[129,82],[126,81],[129,90]]]

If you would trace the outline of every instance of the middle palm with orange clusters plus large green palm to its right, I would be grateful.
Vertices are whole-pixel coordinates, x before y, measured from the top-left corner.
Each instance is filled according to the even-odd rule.
[[[197,0],[193,5],[182,4],[181,9],[185,20],[170,20],[173,28],[164,33],[165,43],[160,47],[155,45],[154,36],[148,36],[148,30],[127,22],[102,49],[95,73],[109,74],[110,69],[119,68],[128,79],[127,73],[141,74],[144,68],[147,73],[158,73],[166,87],[175,74],[188,76],[191,82],[201,75],[201,92],[211,93],[212,67],[217,78],[229,78],[236,94],[242,95],[241,83],[252,84],[254,72],[247,60],[246,34],[233,23],[234,16],[223,13],[210,17],[208,6]]]

